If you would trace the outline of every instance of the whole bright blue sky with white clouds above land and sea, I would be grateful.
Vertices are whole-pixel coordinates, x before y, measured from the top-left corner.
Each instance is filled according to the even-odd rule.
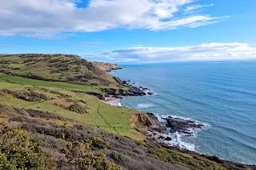
[[[255,0],[0,0],[0,54],[110,63],[256,59]]]

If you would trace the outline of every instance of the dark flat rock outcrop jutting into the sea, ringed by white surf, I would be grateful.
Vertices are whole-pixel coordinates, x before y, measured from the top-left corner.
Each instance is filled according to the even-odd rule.
[[[171,127],[171,133],[188,133],[191,134],[191,129],[202,128],[205,127],[204,124],[199,122],[195,122],[192,120],[185,120],[181,118],[173,118],[172,116],[168,116],[166,118],[166,126]]]

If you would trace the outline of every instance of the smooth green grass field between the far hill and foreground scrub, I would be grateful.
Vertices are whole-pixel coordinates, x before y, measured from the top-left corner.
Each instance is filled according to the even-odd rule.
[[[84,100],[88,113],[78,114],[73,111],[68,111],[56,103],[63,103],[64,99],[57,94],[50,94],[45,92],[43,88],[58,91],[61,94],[69,95],[69,99],[73,101]],[[109,133],[119,133],[131,137],[132,139],[143,139],[143,135],[138,133],[131,127],[130,117],[138,111],[131,110],[125,107],[116,107],[107,105],[94,96],[84,93],[76,92],[90,92],[93,91],[90,86],[69,84],[67,82],[46,82],[33,80],[23,77],[12,77],[0,73],[0,90],[9,89],[15,92],[32,91],[38,94],[44,94],[49,99],[39,102],[31,102],[23,99],[15,98],[10,94],[4,94],[0,98],[0,104],[15,105],[25,109],[33,109],[39,111],[48,111],[65,118],[71,119],[74,122],[79,122],[91,127],[106,130]],[[94,91],[99,90],[98,87]]]

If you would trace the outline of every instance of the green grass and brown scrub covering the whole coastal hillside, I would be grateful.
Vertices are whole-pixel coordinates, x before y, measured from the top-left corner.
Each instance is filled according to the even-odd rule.
[[[73,59],[78,57],[27,56],[0,56],[0,169],[253,169],[148,141],[143,127],[130,122],[140,111],[90,95],[101,93],[105,81],[119,86],[96,65],[87,68],[90,62],[83,61],[80,71],[95,75],[88,82],[71,81],[67,77],[77,75]],[[96,75],[98,70],[110,79]],[[61,74],[63,82],[56,82]]]

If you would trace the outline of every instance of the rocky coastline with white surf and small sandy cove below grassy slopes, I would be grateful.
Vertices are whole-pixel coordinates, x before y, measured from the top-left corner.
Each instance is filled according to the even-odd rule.
[[[138,97],[154,95],[153,91],[149,88],[143,88],[141,86],[136,87],[134,84],[129,84],[129,82],[131,82],[130,80],[122,82],[132,89],[131,93],[125,95],[111,93],[101,99],[101,101],[108,105],[121,107],[123,106],[121,105],[121,99],[124,99],[127,96]],[[143,125],[143,134],[147,139],[158,144],[166,144],[167,146],[175,147],[177,149],[196,152],[195,144],[184,142],[183,137],[195,137],[196,132],[199,129],[206,128],[207,124],[178,116],[166,116],[157,113],[146,114],[153,122],[150,126],[148,126],[148,124]]]

